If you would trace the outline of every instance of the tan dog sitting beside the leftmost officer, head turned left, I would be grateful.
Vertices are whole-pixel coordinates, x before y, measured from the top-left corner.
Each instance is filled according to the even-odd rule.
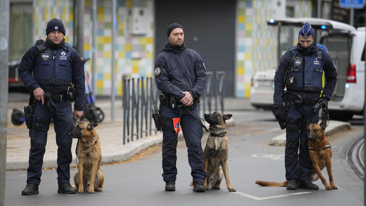
[[[98,124],[79,122],[68,136],[77,138],[77,156],[79,159],[79,170],[74,174],[75,185],[73,187],[78,193],[94,193],[102,191],[104,186],[104,174],[100,169],[102,152],[100,149],[99,136],[95,130]]]

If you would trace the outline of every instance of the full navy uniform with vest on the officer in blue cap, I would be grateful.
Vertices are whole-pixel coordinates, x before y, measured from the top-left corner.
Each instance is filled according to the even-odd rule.
[[[310,26],[308,23],[307,25]],[[314,34],[313,29],[311,27],[310,29]],[[300,30],[299,34],[304,35],[304,32]],[[304,36],[306,38],[306,35]],[[275,113],[283,107],[285,86],[287,101],[292,102],[285,117],[285,175],[287,180],[310,180],[311,161],[307,149],[307,117],[311,123],[318,123],[319,114],[318,112],[314,114],[313,106],[320,99],[321,91],[323,91],[322,98],[325,101],[330,100],[337,81],[337,71],[330,55],[324,49],[317,47],[315,43],[307,48],[309,49],[304,49],[299,43],[295,47],[291,47],[281,57],[275,74],[273,95]],[[323,71],[325,73],[324,88],[322,86]]]

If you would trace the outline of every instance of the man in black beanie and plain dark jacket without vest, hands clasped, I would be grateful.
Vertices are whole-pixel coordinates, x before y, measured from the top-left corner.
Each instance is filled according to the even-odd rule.
[[[201,56],[184,44],[184,32],[181,25],[178,23],[169,25],[167,35],[169,42],[157,56],[154,70],[157,88],[163,93],[160,98],[160,114],[167,119],[180,117],[179,123],[188,148],[188,162],[194,183],[193,191],[205,192],[203,183],[206,171],[203,168],[201,146],[203,129],[193,115],[200,118],[197,100],[206,87],[206,68]],[[193,115],[184,107],[189,108]],[[165,191],[175,191],[178,172],[176,147],[179,130],[177,127],[178,125],[173,126],[171,122],[167,122],[166,128],[163,129],[162,154]]]

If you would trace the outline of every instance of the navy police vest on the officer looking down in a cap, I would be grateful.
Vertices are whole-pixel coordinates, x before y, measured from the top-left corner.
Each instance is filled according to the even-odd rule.
[[[288,90],[296,91],[322,91],[323,90],[323,66],[321,65],[321,57],[323,49],[318,47],[317,52],[313,52],[313,56],[302,56],[300,52],[296,54],[296,47],[289,49],[293,59],[290,65],[290,72],[287,79],[295,77],[294,84],[286,84]],[[295,55],[296,54],[296,55]]]

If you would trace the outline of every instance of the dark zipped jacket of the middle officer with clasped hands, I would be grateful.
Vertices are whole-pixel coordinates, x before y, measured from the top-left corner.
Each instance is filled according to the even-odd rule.
[[[181,91],[188,91],[193,99],[198,99],[206,88],[206,68],[201,56],[183,44],[173,49],[168,43],[155,61],[156,86],[163,93],[180,100]]]

